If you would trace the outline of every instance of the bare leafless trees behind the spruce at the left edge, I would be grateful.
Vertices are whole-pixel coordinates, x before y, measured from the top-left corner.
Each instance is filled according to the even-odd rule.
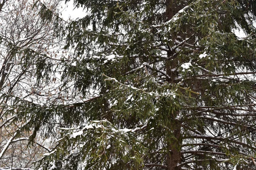
[[[52,12],[58,12],[59,0],[45,3]],[[33,119],[29,114],[19,115],[19,104],[15,103],[20,99],[30,105],[46,104],[57,88],[53,74],[51,83],[37,84],[37,79],[47,77],[42,65],[58,64],[61,55],[54,49],[61,42],[55,37],[53,22],[43,20],[33,4],[29,0],[0,1],[0,169],[30,169],[50,151],[49,143],[43,146],[46,138],[34,136],[29,140],[34,133],[28,124],[34,123]]]

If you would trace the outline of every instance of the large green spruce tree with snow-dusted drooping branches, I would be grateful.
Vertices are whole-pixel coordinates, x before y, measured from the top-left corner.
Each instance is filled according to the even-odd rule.
[[[35,2],[44,21],[55,21],[64,50],[74,49],[56,67],[35,68],[44,73],[38,85],[60,72],[58,97],[41,104],[12,96],[15,109],[1,104],[4,113],[29,120],[29,140],[55,136],[38,169],[256,169],[255,1],[74,6],[86,17],[63,26]]]

